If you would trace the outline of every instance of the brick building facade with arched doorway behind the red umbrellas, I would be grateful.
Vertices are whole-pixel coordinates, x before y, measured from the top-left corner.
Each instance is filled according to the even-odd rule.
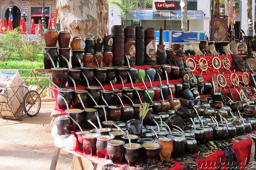
[[[20,19],[22,16],[25,16],[26,18],[26,26],[27,26],[27,32],[30,32],[31,28],[31,20],[35,20],[36,27],[38,26],[38,21],[42,21],[42,4],[43,1],[37,1],[37,0],[2,0],[0,3],[0,11],[1,11],[1,19],[4,20],[6,18],[8,20],[10,8],[11,13],[13,16],[12,25],[13,28],[16,28],[20,24]],[[48,25],[49,18],[56,18],[56,2],[54,0],[45,0],[45,21]]]

